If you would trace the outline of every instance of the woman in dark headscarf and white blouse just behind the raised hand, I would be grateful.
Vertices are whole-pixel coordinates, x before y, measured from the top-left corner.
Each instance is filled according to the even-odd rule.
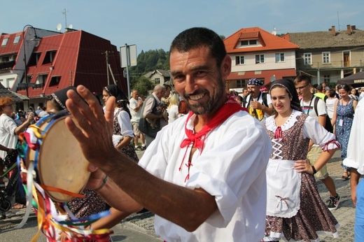
[[[135,162],[139,162],[137,153],[131,143],[134,138],[134,131],[132,122],[130,122],[132,115],[130,115],[129,108],[127,107],[129,101],[127,101],[127,97],[117,85],[108,85],[107,87],[104,87],[102,99],[106,102],[111,96],[116,99],[113,120],[114,145],[120,152],[123,152],[125,155],[134,159]]]

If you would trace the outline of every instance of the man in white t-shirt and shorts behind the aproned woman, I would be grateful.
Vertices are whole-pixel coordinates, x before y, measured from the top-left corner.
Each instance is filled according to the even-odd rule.
[[[311,93],[312,85],[311,85],[311,78],[309,76],[297,76],[294,80],[295,87],[297,93],[302,97],[301,99],[301,108],[302,112],[310,115],[325,127],[326,118],[328,118],[328,114],[326,111],[325,101],[323,99],[314,96]],[[317,113],[314,107],[315,99],[318,99],[317,102]],[[309,153],[307,154],[308,162],[313,166],[318,157],[321,155],[321,148],[318,145],[315,145],[313,141],[309,141]],[[323,184],[325,184],[326,188],[330,192],[330,199],[326,201],[328,203],[328,208],[330,210],[336,210],[339,206],[339,194],[336,192],[336,187],[334,180],[328,174],[327,166],[323,166],[315,176],[320,179]]]

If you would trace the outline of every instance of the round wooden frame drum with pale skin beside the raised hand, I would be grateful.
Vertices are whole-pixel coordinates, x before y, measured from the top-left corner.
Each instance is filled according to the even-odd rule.
[[[42,136],[39,139],[41,142],[38,150],[28,148],[26,160],[27,164],[31,160],[37,162],[37,176],[41,185],[80,193],[90,177],[90,171],[87,171],[89,163],[78,141],[64,123],[66,116],[46,118],[43,123],[40,120],[36,124]],[[65,202],[74,198],[71,194],[44,190],[53,201]]]

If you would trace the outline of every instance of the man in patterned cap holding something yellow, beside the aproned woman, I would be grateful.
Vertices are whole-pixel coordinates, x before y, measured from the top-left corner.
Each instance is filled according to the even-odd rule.
[[[272,99],[266,92],[260,92],[260,86],[263,83],[257,78],[248,80],[248,92],[246,97],[246,105],[249,113],[257,118],[260,122],[264,122],[266,118],[273,114]]]

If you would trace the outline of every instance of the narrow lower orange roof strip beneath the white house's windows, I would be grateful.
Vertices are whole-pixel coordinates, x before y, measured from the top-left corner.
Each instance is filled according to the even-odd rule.
[[[295,69],[281,69],[281,70],[266,70],[266,71],[241,71],[232,72],[228,76],[227,80],[247,80],[250,78],[258,78],[264,80],[267,84],[270,82],[272,76],[276,77],[276,80],[282,78],[292,78],[297,76]]]

